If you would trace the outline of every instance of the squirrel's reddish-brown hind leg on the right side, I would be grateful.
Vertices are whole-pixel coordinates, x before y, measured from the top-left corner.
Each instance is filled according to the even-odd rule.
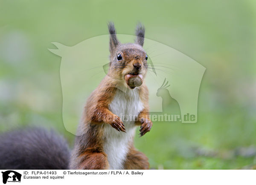
[[[140,151],[137,151],[134,147],[132,147],[126,157],[124,163],[125,170],[148,170],[149,163],[148,157],[145,156]]]

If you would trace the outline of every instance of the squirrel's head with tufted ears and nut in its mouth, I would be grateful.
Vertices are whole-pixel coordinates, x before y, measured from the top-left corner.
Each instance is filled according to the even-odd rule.
[[[113,23],[108,24],[108,29],[110,33],[108,75],[117,80],[124,80],[131,89],[140,86],[148,68],[148,56],[143,49],[144,26],[139,23],[136,28],[135,43],[126,44],[120,43],[117,39]]]

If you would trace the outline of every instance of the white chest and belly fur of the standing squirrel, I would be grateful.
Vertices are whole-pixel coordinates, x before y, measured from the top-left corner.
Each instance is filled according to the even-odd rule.
[[[126,133],[116,131],[111,125],[105,125],[103,149],[108,155],[110,169],[123,169],[123,163],[129,150],[129,143],[135,134],[135,124],[128,118],[137,116],[143,110],[140,101],[140,91],[128,89],[125,92],[117,89],[109,105],[109,110],[121,118],[125,125]]]

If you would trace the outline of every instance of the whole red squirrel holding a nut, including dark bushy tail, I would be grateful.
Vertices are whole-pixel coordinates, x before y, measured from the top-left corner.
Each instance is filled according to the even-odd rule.
[[[135,43],[121,44],[113,23],[109,23],[108,28],[108,75],[87,99],[71,159],[67,144],[61,137],[43,129],[29,129],[1,137],[0,160],[4,162],[0,168],[149,168],[148,158],[133,144],[137,125],[140,126],[140,136],[152,127],[148,118],[148,88],[143,83],[148,68],[148,56],[143,50],[145,29],[139,24]],[[123,116],[129,119],[122,120]],[[12,142],[18,143],[18,150],[8,149]],[[16,159],[20,159],[19,162],[15,163]]]

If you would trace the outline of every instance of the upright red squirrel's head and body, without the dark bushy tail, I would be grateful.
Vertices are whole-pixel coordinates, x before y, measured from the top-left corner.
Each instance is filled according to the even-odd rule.
[[[148,158],[133,144],[136,125],[140,125],[140,136],[152,127],[147,116],[148,88],[142,83],[148,68],[148,56],[142,48],[145,29],[139,24],[135,43],[121,44],[113,23],[108,28],[108,75],[87,100],[78,129],[82,135],[76,137],[70,168],[148,169]],[[124,121],[121,115],[138,119]]]

